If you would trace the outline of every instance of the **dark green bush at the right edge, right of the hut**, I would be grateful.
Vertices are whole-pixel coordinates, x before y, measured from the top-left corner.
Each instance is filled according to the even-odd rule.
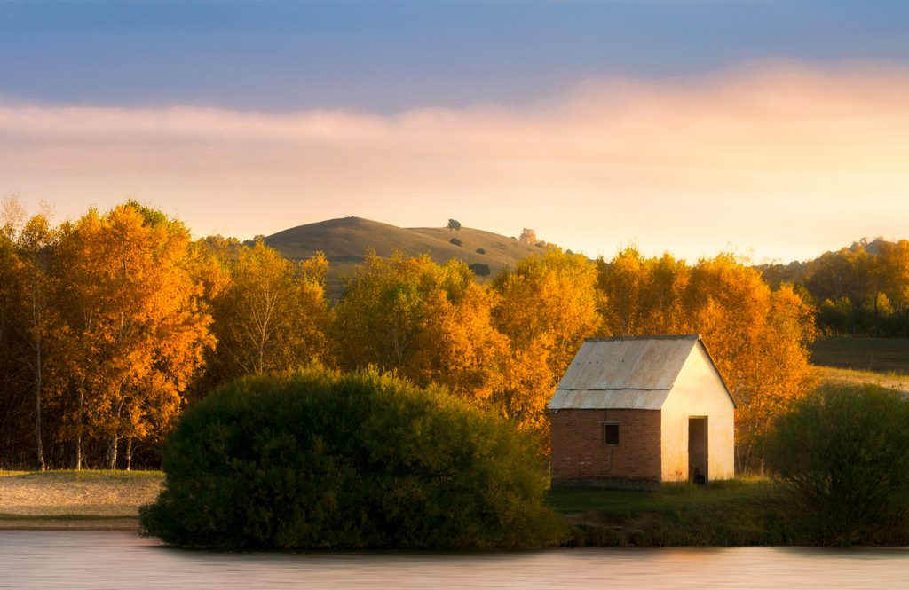
[[[904,544],[909,401],[875,385],[825,385],[781,415],[766,459],[792,499],[795,542]]]

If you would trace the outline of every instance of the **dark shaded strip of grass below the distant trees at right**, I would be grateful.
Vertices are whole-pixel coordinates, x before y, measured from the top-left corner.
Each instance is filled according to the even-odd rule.
[[[814,365],[909,375],[909,338],[819,338],[811,346]]]

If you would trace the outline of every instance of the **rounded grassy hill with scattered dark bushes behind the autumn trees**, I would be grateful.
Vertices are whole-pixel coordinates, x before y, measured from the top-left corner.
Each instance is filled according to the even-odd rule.
[[[461,245],[452,244],[452,238],[460,240]],[[412,256],[428,254],[440,264],[456,258],[468,265],[488,265],[486,280],[505,266],[513,267],[527,255],[541,252],[534,245],[469,227],[458,231],[447,227],[405,228],[361,217],[298,225],[265,237],[265,244],[295,260],[324,252],[329,262],[327,291],[333,298],[341,294],[345,277],[363,262],[367,249],[380,256],[390,256],[395,250]]]

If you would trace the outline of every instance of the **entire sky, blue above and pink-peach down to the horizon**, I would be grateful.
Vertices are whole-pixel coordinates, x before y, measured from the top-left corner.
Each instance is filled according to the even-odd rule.
[[[4,2],[0,195],[611,257],[909,238],[909,3]]]

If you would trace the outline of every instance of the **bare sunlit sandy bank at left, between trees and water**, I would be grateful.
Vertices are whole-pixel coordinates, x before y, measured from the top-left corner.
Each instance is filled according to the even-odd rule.
[[[155,500],[163,480],[157,472],[0,472],[0,528],[135,528],[139,506]]]

